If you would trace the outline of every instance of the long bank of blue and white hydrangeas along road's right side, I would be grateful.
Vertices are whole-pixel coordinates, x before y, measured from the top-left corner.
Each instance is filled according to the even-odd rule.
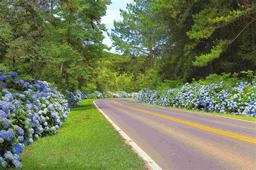
[[[193,86],[186,83],[180,89],[140,90],[134,100],[167,107],[255,117],[255,91],[254,81],[240,82],[235,86],[223,82]]]

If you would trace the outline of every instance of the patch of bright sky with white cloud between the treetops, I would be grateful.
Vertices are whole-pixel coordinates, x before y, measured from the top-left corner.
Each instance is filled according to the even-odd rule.
[[[123,18],[120,16],[120,11],[119,9],[125,9],[127,3],[132,3],[133,0],[112,0],[112,4],[107,5],[107,10],[106,10],[106,15],[102,17],[102,23],[106,25],[106,29],[108,32],[113,29],[113,22],[114,20],[119,21],[123,20]],[[103,40],[103,44],[111,47],[112,46],[112,41],[107,36],[107,33],[103,33],[105,36],[105,39]],[[118,53],[114,48],[110,50],[111,53]]]

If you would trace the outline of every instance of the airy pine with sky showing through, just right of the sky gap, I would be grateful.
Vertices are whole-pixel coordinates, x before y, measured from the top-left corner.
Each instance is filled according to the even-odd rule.
[[[166,42],[165,25],[158,22],[153,11],[153,0],[136,0],[127,4],[126,10],[120,10],[124,18],[114,21],[111,30],[113,46],[125,55],[147,56],[157,58]],[[153,66],[151,60],[151,66]]]

